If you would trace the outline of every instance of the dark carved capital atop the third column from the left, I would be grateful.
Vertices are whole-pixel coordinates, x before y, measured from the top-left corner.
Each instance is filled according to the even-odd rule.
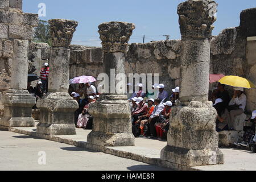
[[[134,23],[108,22],[100,24],[98,28],[104,52],[127,52],[130,36],[135,29]]]

